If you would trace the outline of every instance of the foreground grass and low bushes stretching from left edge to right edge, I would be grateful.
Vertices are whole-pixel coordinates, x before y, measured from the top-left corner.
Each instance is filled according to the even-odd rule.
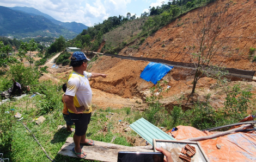
[[[162,88],[159,85],[157,86],[159,89]],[[223,114],[223,112],[225,112],[224,110],[230,109],[229,105],[226,104],[227,106],[220,109],[220,111],[216,111],[214,107],[210,105],[210,100],[197,102],[193,109],[188,109],[187,111],[182,111],[181,107],[176,106],[169,114],[164,110],[164,107],[157,102],[158,99],[154,96],[149,98],[151,100],[148,101],[151,102],[149,102],[149,108],[145,112],[135,111],[130,107],[124,107],[122,109],[107,107],[106,109],[101,109],[93,105],[93,111],[96,111],[88,126],[87,138],[102,142],[111,142],[112,138],[115,136],[116,138],[113,144],[132,146],[133,144],[126,139],[128,137],[136,137],[137,133],[134,131],[125,132],[124,129],[126,125],[132,124],[141,117],[148,121],[154,119],[154,125],[163,126],[167,129],[178,125],[189,125],[198,129],[204,129],[235,123],[248,114],[246,113],[247,107],[244,107],[244,109],[240,111],[240,109],[234,106],[241,105],[242,103],[244,106],[249,104],[248,99],[251,99],[252,95],[248,94],[250,89],[240,88],[241,86],[237,85],[234,86],[233,89],[230,89],[229,105],[233,106],[231,108],[233,108],[234,112],[228,112],[228,114]],[[9,120],[9,118],[5,117],[8,116],[7,114],[5,115],[5,111],[14,109],[12,113],[15,114],[19,112],[23,117],[21,121],[16,121],[17,119],[14,120],[13,129],[10,132],[12,137],[10,141],[11,151],[6,151],[5,149],[5,152],[2,152],[4,148],[0,147],[0,152],[4,153],[4,158],[9,158],[11,161],[50,161],[33,138],[33,133],[53,160],[87,161],[57,154],[60,148],[65,144],[66,139],[72,137],[74,134],[66,132],[66,130],[62,128],[57,129],[59,125],[65,125],[62,116],[63,103],[61,101],[63,92],[60,91],[59,85],[48,84],[43,85],[43,87],[38,86],[37,90],[40,90],[38,92],[41,95],[35,95],[33,98],[29,98],[29,96],[32,95],[30,94],[20,100],[12,100],[11,102],[0,105],[0,112],[4,110],[0,113],[0,129],[3,128],[2,125],[5,125]],[[239,98],[236,98],[237,95]],[[210,96],[208,98],[210,98]],[[183,100],[183,97],[181,100]],[[251,106],[254,107],[254,105]],[[237,111],[240,111],[241,114]],[[255,114],[255,112],[252,113]],[[42,124],[36,125],[33,119],[39,118],[41,114],[46,120]],[[234,119],[234,117],[238,118]],[[1,120],[2,118],[8,120]],[[21,122],[23,122],[32,133],[28,132]],[[123,126],[123,124],[125,125]],[[1,142],[3,142],[1,141],[2,139],[4,138],[0,138],[0,146]]]

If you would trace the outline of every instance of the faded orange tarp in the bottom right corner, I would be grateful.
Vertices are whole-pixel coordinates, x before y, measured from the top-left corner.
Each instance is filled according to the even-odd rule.
[[[177,126],[171,132],[176,140],[202,137],[217,132],[200,131],[190,126]],[[236,132],[215,139],[199,141],[210,161],[256,161],[256,133]],[[218,149],[216,145],[221,145]]]

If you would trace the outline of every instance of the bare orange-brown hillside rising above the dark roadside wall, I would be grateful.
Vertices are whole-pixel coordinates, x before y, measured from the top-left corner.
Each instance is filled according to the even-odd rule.
[[[230,38],[222,44],[214,62],[221,60],[223,67],[255,70],[255,63],[252,62],[252,57],[249,57],[249,48],[256,46],[256,3],[247,0],[223,3],[231,15],[228,20],[230,23],[227,24],[229,28],[221,33],[220,37],[222,40],[227,36]],[[211,8],[212,5],[214,4],[209,4],[206,8]],[[200,16],[202,8],[192,10],[149,36],[138,50],[128,46],[119,54],[193,62],[190,54],[198,51],[198,40],[193,32],[202,30],[194,21]]]

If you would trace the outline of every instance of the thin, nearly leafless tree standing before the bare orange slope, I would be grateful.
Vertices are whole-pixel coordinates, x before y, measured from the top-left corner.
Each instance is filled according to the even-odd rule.
[[[194,94],[198,80],[205,75],[208,67],[212,63],[216,66],[221,64],[214,59],[234,33],[236,15],[231,13],[227,6],[224,2],[217,1],[203,7],[198,11],[198,17],[193,20],[193,25],[185,30],[185,34],[191,35],[186,42],[189,43],[189,52],[196,69],[191,95]]]

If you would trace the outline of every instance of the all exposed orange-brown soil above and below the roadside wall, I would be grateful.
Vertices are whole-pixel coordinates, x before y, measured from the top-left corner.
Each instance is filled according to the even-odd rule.
[[[230,27],[235,26],[235,28],[232,31],[233,33],[228,45],[223,45],[220,48],[213,63],[222,62],[223,67],[256,70],[255,62],[252,62],[252,57],[248,56],[249,48],[256,47],[256,26],[254,23],[256,21],[256,3],[246,0],[223,2],[229,4],[229,10],[235,13],[231,18],[236,19],[230,21]],[[210,7],[210,5],[207,7]],[[147,37],[139,49],[127,46],[120,51],[119,55],[142,56],[177,62],[193,62],[190,55],[191,50],[188,48],[189,46],[193,47],[193,36],[188,31],[191,31],[190,28],[193,27],[193,20],[198,17],[199,11],[200,9],[195,9],[177,18],[174,22],[169,23],[156,31],[155,34]],[[227,33],[223,33],[221,36],[225,37],[225,34]],[[136,43],[134,42],[134,44]],[[127,105],[135,105],[136,107],[137,103],[135,102],[139,103],[144,100],[145,96],[148,95],[149,88],[154,86],[153,83],[140,78],[141,72],[148,63],[147,61],[121,60],[114,57],[101,56],[95,62],[89,64],[88,72],[108,74],[105,79],[96,78],[90,80],[91,87],[98,89],[93,90],[95,92],[93,96],[94,103],[102,107],[122,107]],[[53,72],[51,72],[52,70]],[[51,69],[51,77],[65,80],[70,70],[69,67],[61,66],[58,69]],[[186,98],[190,94],[192,79],[193,72],[191,69],[174,67],[162,79],[167,81],[170,89],[168,93],[161,94],[164,97],[161,102],[170,109],[173,105],[179,104],[178,99]],[[236,83],[241,84],[243,87],[251,85],[252,92],[255,92],[255,82],[235,81],[230,82],[230,85]],[[167,85],[162,86],[166,88]],[[207,94],[211,94],[214,107],[223,106],[223,90],[216,88],[216,81],[214,79],[203,77],[197,84],[195,96],[197,96],[197,100],[204,100]],[[132,100],[135,104],[131,103]],[[184,109],[189,108],[189,106],[190,103],[182,105]]]

